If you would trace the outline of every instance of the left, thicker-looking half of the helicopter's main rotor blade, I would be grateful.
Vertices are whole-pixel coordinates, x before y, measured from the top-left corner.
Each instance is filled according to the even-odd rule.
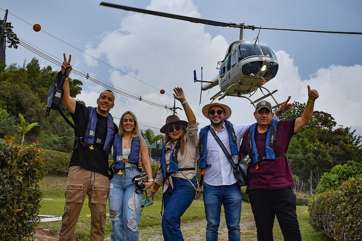
[[[239,24],[234,24],[234,23],[223,23],[223,22],[218,22],[218,21],[212,21],[212,20],[206,20],[206,19],[198,19],[198,18],[180,16],[180,15],[175,15],[175,14],[166,14],[166,13],[161,13],[161,12],[156,12],[156,11],[151,11],[151,10],[131,8],[131,7],[127,7],[127,6],[104,3],[104,2],[102,2],[100,5],[101,6],[106,6],[106,7],[111,7],[111,8],[116,8],[116,9],[123,9],[123,10],[126,10],[126,11],[142,13],[142,14],[150,14],[150,15],[156,15],[156,16],[165,17],[165,18],[189,21],[189,22],[197,23],[197,24],[207,24],[207,25],[221,26],[221,27],[240,28]]]

